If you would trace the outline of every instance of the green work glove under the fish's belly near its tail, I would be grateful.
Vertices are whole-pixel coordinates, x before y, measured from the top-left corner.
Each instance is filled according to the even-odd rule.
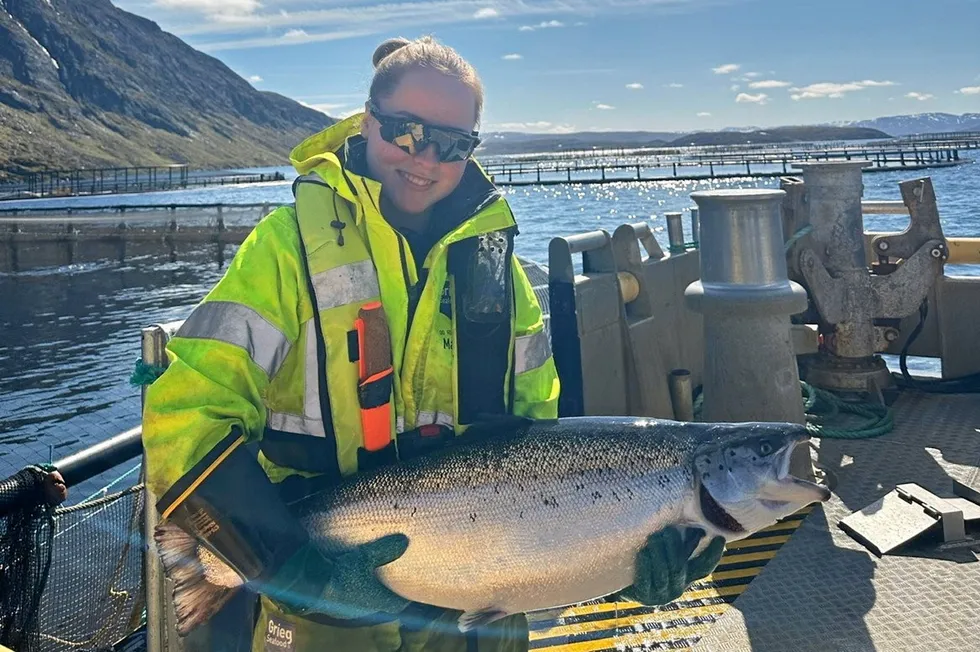
[[[407,547],[408,537],[392,534],[328,558],[307,543],[256,589],[295,614],[351,619],[398,613],[409,601],[382,584],[375,571],[401,557]]]

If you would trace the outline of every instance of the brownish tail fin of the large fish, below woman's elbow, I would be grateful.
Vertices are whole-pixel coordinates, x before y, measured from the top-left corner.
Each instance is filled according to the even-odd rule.
[[[153,539],[163,572],[174,583],[177,633],[186,636],[231,600],[242,586],[242,579],[176,525],[158,525]]]

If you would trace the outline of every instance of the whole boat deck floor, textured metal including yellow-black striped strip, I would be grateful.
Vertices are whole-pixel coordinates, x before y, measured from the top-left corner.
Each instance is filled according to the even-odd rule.
[[[729,547],[706,581],[663,608],[596,602],[531,614],[549,652],[865,652],[980,649],[980,563],[966,548],[877,558],[838,527],[904,483],[941,497],[980,482],[980,399],[905,390],[876,439],[815,439],[837,480],[808,514]],[[778,554],[777,554],[778,553]]]

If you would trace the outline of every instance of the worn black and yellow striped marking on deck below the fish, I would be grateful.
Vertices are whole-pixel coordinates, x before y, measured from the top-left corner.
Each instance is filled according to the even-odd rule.
[[[730,543],[715,572],[668,605],[600,600],[528,614],[530,647],[543,652],[687,650],[748,588],[809,513],[806,508]]]

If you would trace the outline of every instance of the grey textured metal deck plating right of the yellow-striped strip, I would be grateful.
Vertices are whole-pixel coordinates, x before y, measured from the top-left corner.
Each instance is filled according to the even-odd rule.
[[[976,395],[903,393],[877,439],[819,442],[838,476],[697,652],[938,652],[980,649],[980,562],[967,549],[875,557],[838,527],[897,485],[953,495],[980,481]]]

